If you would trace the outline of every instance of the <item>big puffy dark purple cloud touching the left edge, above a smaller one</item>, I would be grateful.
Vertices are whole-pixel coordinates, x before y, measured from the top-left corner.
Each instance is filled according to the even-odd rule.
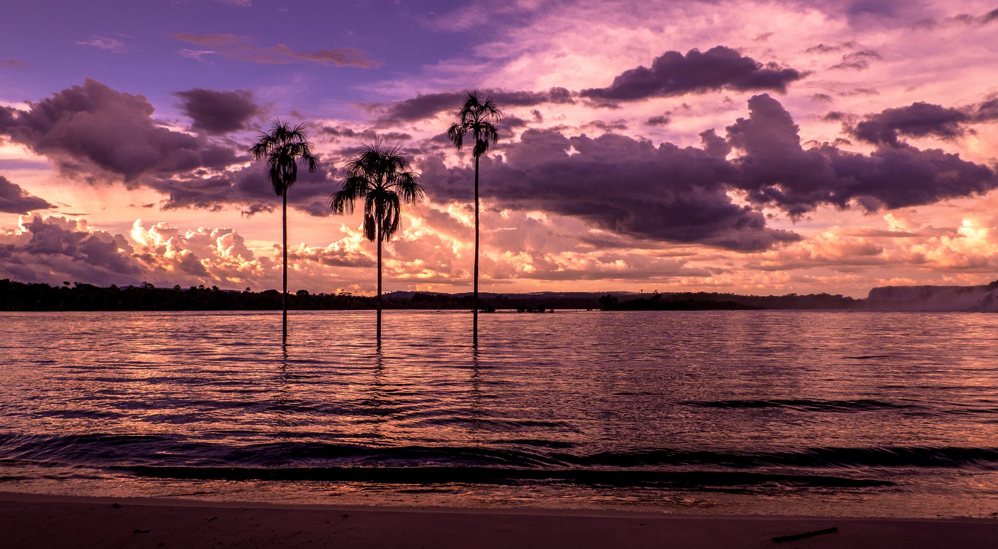
[[[93,79],[31,104],[0,107],[0,135],[91,180],[121,177],[137,187],[145,176],[169,177],[240,159],[202,136],[174,132],[152,118],[145,97],[117,92]]]

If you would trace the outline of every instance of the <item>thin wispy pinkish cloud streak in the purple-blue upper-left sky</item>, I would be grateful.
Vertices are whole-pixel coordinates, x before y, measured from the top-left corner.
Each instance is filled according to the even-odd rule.
[[[336,67],[361,67],[369,69],[381,65],[372,61],[363,50],[356,48],[335,48],[316,52],[299,52],[283,44],[264,48],[253,46],[250,38],[236,34],[192,34],[176,33],[170,35],[177,40],[194,44],[211,50],[183,50],[187,57],[201,60],[210,53],[219,54],[230,59],[251,61],[253,63],[286,64],[297,61],[307,61],[318,65],[333,65]]]

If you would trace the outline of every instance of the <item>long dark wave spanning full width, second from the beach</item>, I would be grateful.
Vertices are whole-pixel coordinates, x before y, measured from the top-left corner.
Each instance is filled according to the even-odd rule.
[[[546,439],[497,439],[481,446],[389,445],[321,440],[233,443],[170,434],[17,435],[0,433],[0,464],[110,466],[510,468],[626,467],[973,467],[998,468],[998,448],[958,446],[736,449],[627,448],[585,452]]]

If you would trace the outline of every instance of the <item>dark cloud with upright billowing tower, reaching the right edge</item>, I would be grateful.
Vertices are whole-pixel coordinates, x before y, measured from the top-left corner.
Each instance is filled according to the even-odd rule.
[[[740,172],[735,186],[748,193],[751,203],[775,206],[790,216],[819,205],[855,203],[867,211],[919,206],[998,186],[990,168],[938,149],[889,142],[870,155],[829,144],[805,150],[789,113],[765,94],[749,100],[749,112],[748,119],[728,127],[729,143],[744,152],[733,161]]]

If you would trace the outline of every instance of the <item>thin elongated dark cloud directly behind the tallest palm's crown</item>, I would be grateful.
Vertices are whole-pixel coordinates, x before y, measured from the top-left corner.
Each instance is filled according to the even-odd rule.
[[[394,103],[374,103],[367,108],[380,112],[378,122],[381,124],[399,124],[413,122],[436,116],[444,111],[454,111],[461,106],[468,91],[442,92],[436,94],[417,95],[416,97],[396,101]],[[479,90],[485,96],[496,100],[500,108],[534,107],[546,103],[575,103],[574,94],[565,88],[551,88],[546,92],[525,92],[509,90]]]

